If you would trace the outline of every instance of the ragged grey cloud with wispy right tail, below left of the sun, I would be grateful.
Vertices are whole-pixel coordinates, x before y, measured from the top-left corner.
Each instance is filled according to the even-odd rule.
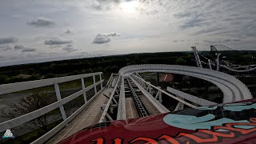
[[[109,33],[109,34],[97,34],[96,38],[94,38],[93,43],[95,44],[103,44],[110,42],[110,37],[120,36],[118,33]]]

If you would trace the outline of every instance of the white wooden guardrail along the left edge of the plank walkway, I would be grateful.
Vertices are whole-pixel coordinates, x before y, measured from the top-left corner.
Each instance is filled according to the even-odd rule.
[[[98,82],[95,81],[96,75],[99,75]],[[94,84],[86,87],[84,78],[88,78],[88,77],[93,77]],[[70,81],[77,80],[77,79],[81,79],[82,90],[79,90],[78,92],[71,94],[70,96],[68,96],[66,98],[61,98],[58,84],[62,83],[62,82],[70,82]],[[61,77],[61,78],[49,78],[49,79],[42,79],[42,80],[36,80],[36,81],[30,81],[30,82],[18,82],[18,83],[1,85],[0,86],[0,94],[8,94],[8,93],[12,93],[12,92],[21,91],[21,90],[30,90],[30,89],[34,89],[34,88],[38,88],[38,87],[42,87],[42,86],[54,85],[55,93],[56,93],[58,101],[54,102],[48,106],[42,107],[41,109],[34,110],[33,112],[30,112],[28,114],[19,116],[18,118],[13,118],[6,122],[0,123],[0,132],[7,130],[7,129],[14,128],[15,126],[19,126],[25,122],[30,122],[34,118],[38,118],[38,117],[42,116],[43,114],[46,114],[46,113],[50,112],[51,110],[54,110],[59,107],[61,114],[62,114],[63,122],[60,123],[58,126],[54,127],[53,130],[50,130],[51,132],[54,131],[54,133],[51,133],[51,134],[48,134],[49,132],[47,133],[48,134],[48,135],[46,135],[47,138],[50,138],[50,136],[53,136],[53,134],[58,133],[59,130],[61,130],[64,126],[66,126],[66,124],[68,122],[72,121],[75,118],[75,116],[78,115],[82,111],[82,109],[86,105],[88,105],[103,90],[102,82],[104,82],[104,80],[102,79],[102,72],[98,72],[98,73],[91,73],[91,74],[79,74],[79,75],[67,76],[67,77]],[[97,92],[96,86],[98,86],[98,85],[101,86],[101,90]],[[94,97],[90,98],[90,100],[87,102],[86,92],[93,88],[94,88],[94,93],[95,93]],[[70,102],[74,98],[78,98],[78,96],[80,96],[82,94],[84,97],[85,104],[83,106],[81,106],[77,111],[75,111],[74,114],[71,114],[69,118],[66,118],[66,113],[63,108],[63,105],[66,104],[67,102]],[[42,137],[40,139],[40,141],[38,141],[38,142],[39,143],[46,142],[46,137]]]

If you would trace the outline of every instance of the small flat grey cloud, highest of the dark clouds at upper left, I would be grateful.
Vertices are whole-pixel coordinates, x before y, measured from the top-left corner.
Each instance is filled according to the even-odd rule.
[[[49,18],[36,18],[30,22],[27,22],[30,26],[37,26],[37,27],[49,27],[54,26],[55,22],[50,20]]]

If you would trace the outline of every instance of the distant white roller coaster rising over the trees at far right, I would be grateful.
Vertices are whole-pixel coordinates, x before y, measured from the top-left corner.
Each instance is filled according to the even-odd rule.
[[[210,51],[215,51],[217,58],[214,60],[211,60],[210,58],[206,58],[202,54],[198,53],[198,50],[195,46],[191,47],[192,50],[194,51],[194,58],[195,61],[197,62],[198,67],[203,67],[202,65],[205,65],[205,68],[209,68],[210,70],[220,70],[220,68],[231,71],[231,72],[236,72],[236,73],[246,73],[246,72],[256,72],[256,65],[248,65],[248,66],[242,66],[242,65],[236,65],[231,62],[228,62],[226,60],[220,61],[220,55],[221,51],[227,51],[227,50],[234,50],[231,49],[230,47],[223,46],[223,45],[212,45],[210,46]],[[201,58],[204,58],[207,62],[202,61]]]

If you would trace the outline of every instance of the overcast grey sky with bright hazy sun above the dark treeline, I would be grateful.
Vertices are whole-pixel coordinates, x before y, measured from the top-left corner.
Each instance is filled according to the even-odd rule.
[[[256,50],[255,0],[0,0],[0,66],[113,54]]]

